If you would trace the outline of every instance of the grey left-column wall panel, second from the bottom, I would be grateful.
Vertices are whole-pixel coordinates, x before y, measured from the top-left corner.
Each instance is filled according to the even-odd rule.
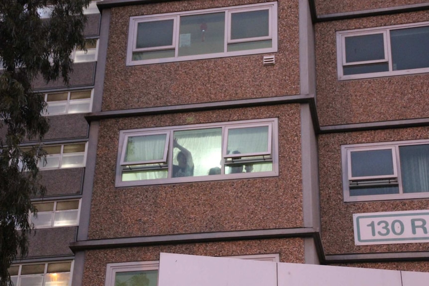
[[[85,168],[42,170],[40,183],[47,189],[45,196],[82,193]]]

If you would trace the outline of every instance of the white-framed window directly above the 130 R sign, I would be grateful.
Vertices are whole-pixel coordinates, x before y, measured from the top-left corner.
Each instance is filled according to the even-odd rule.
[[[429,141],[341,147],[345,201],[429,197]]]

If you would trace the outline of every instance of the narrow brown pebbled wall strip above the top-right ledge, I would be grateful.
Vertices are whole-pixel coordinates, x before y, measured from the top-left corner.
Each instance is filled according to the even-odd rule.
[[[315,0],[316,12],[318,15],[344,13],[360,10],[371,10],[389,8],[402,5],[419,4],[423,0]]]

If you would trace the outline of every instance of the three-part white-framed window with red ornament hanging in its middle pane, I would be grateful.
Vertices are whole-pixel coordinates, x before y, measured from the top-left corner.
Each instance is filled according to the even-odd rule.
[[[127,65],[277,51],[277,2],[130,17]]]

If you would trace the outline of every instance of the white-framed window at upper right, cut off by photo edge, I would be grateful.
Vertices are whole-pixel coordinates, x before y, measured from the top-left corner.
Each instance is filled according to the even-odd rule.
[[[338,79],[429,72],[429,22],[337,32]]]

